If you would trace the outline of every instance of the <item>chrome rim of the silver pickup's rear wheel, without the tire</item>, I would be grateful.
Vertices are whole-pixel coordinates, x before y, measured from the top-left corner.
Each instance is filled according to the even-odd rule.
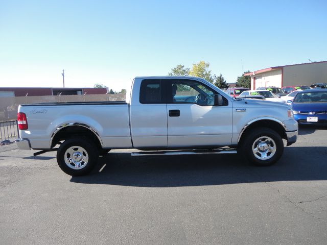
[[[81,146],[69,147],[64,155],[65,163],[72,169],[82,169],[88,163],[88,154]]]

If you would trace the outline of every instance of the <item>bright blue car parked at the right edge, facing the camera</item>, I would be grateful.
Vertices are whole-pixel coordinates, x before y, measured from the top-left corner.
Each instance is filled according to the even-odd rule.
[[[298,91],[288,103],[298,124],[327,125],[327,89]]]

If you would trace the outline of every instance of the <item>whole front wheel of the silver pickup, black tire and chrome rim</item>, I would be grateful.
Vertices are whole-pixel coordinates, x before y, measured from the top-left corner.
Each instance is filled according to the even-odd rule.
[[[283,155],[283,139],[274,130],[269,128],[253,129],[244,137],[240,145],[241,154],[255,165],[272,165]]]

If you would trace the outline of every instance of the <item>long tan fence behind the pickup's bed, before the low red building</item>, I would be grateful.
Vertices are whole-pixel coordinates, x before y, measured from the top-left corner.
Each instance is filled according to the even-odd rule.
[[[16,120],[18,106],[47,102],[125,101],[126,94],[48,95],[26,97],[0,97],[0,122]]]

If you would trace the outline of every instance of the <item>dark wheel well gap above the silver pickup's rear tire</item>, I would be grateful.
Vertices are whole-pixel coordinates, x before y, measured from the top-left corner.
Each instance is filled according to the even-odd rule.
[[[62,140],[73,137],[84,137],[95,142],[98,149],[102,149],[101,142],[97,135],[91,130],[82,126],[68,126],[59,130],[52,139],[51,148]]]

